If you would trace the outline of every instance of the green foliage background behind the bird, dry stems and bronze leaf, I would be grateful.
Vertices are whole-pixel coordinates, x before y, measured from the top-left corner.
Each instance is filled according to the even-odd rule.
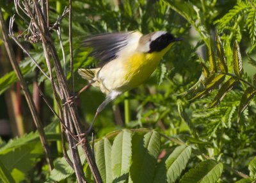
[[[50,22],[56,22],[68,1],[51,1]],[[225,98],[215,107],[209,107],[218,95],[221,83],[202,99],[192,99],[202,91],[202,65],[212,68],[212,55],[218,56],[214,40],[216,29],[220,34],[227,60],[228,72],[233,70],[232,47],[240,45],[245,81],[253,84],[255,74],[256,46],[256,2],[255,1],[86,1],[73,3],[74,70],[76,91],[86,82],[81,79],[78,68],[93,67],[95,60],[88,58],[89,51],[80,47],[84,36],[97,33],[138,30],[143,34],[166,30],[176,37],[184,37],[164,56],[159,68],[147,83],[132,90],[129,97],[122,95],[109,105],[97,118],[95,131],[95,158],[104,182],[253,182],[256,180],[255,161],[255,99],[248,101],[237,122],[241,97],[248,88],[246,83],[234,85]],[[12,3],[1,1],[6,20],[13,15]],[[20,31],[28,25],[18,16],[16,23]],[[61,22],[61,33],[68,54],[68,19]],[[52,33],[58,54],[62,58],[56,32]],[[40,44],[31,45],[31,54],[46,70],[44,54]],[[198,54],[200,55],[199,58]],[[248,63],[248,56],[254,66]],[[25,58],[20,63],[22,72],[31,83],[35,76],[35,65]],[[69,63],[67,63],[67,70]],[[68,79],[70,72],[67,72]],[[17,81],[14,72],[0,78],[0,93]],[[51,84],[40,75],[45,83],[45,95],[52,99]],[[255,84],[255,82],[254,82]],[[255,85],[254,90],[255,90]],[[253,90],[253,91],[254,91]],[[207,91],[208,93],[209,91]],[[206,93],[205,93],[206,94]],[[196,97],[195,97],[196,98]],[[199,98],[199,97],[198,97]],[[131,121],[124,122],[124,100],[131,102]],[[95,88],[79,96],[78,107],[84,125],[88,125],[104,95]],[[24,107],[26,105],[24,104]],[[56,118],[45,105],[45,120],[49,123],[47,138],[55,153],[56,168],[51,175],[47,172],[44,154],[38,134],[31,132],[21,138],[14,138],[0,145],[0,177],[7,182],[47,182],[52,180],[74,180],[74,172],[62,155],[56,152],[55,141],[60,134],[54,132]],[[120,109],[120,113],[118,110]],[[113,112],[114,111],[114,112]],[[116,112],[117,111],[117,112]],[[115,115],[122,116],[122,126],[115,121]],[[31,118],[31,116],[26,116]],[[30,120],[28,120],[29,122]],[[147,128],[147,129],[146,129]],[[132,129],[132,130],[131,130]],[[152,130],[149,130],[152,129]],[[122,150],[120,150],[122,149]],[[24,154],[21,161],[18,154]],[[61,158],[62,157],[62,158]],[[6,159],[10,160],[6,163]],[[84,157],[81,157],[84,161]],[[207,160],[206,160],[207,159]],[[29,164],[25,162],[29,161]],[[38,162],[42,161],[41,165]],[[26,168],[20,166],[26,164]],[[42,165],[43,164],[43,165]],[[36,168],[40,166],[40,171]],[[36,171],[35,171],[36,170]],[[234,171],[248,175],[248,179]],[[84,163],[89,182],[92,175]],[[32,173],[33,172],[33,173]],[[15,176],[13,176],[15,175]],[[151,176],[151,177],[150,177]],[[245,176],[246,177],[246,176]],[[240,180],[242,179],[242,180]],[[239,181],[240,180],[240,181]]]

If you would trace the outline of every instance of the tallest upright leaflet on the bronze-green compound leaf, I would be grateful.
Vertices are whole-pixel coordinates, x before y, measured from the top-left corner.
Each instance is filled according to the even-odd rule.
[[[217,60],[218,60],[218,67],[220,68],[221,72],[228,72],[227,61],[224,54],[224,49],[220,40],[220,36],[218,32],[216,32],[216,49],[217,49]]]

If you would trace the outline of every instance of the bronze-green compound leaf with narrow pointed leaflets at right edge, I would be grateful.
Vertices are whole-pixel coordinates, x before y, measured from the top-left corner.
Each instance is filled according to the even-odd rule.
[[[242,78],[243,76],[243,63],[241,58],[241,53],[239,49],[239,45],[237,41],[234,42],[233,46],[233,71],[234,74],[228,72],[228,65],[225,59],[225,52],[221,43],[220,36],[216,33],[216,52],[217,58],[214,56],[213,49],[211,47],[211,40],[208,48],[208,60],[210,68],[207,68],[203,63],[203,73],[204,77],[202,78],[202,82],[204,83],[204,88],[202,90],[198,90],[197,94],[193,99],[202,98],[208,93],[212,92],[212,90],[218,88],[218,93],[212,100],[209,108],[216,106],[223,100],[225,95],[232,90],[234,86],[239,83],[247,84],[249,87],[244,91],[240,104],[238,107],[238,114],[237,114],[237,121],[241,114],[243,113],[244,109],[250,104],[250,101],[256,94],[256,86],[255,83],[249,83],[248,81]],[[216,62],[218,60],[218,62]],[[229,77],[227,80],[226,77]],[[193,100],[191,99],[191,100]]]

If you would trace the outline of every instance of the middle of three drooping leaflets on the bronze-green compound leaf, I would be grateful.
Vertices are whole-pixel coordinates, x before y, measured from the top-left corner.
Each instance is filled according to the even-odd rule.
[[[237,80],[231,77],[226,81],[218,91],[217,95],[212,100],[209,108],[216,106],[216,104],[219,104],[221,100],[225,97],[225,95],[234,87],[234,85],[237,83]]]

